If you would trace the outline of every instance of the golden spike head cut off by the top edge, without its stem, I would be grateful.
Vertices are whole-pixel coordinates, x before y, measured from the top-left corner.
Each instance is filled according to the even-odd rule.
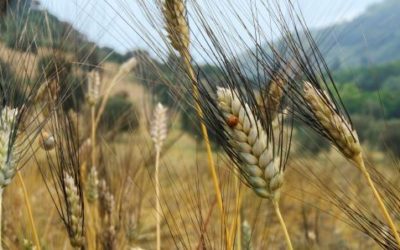
[[[185,5],[182,0],[165,0],[164,18],[168,38],[177,51],[189,48],[189,26],[185,18]]]

